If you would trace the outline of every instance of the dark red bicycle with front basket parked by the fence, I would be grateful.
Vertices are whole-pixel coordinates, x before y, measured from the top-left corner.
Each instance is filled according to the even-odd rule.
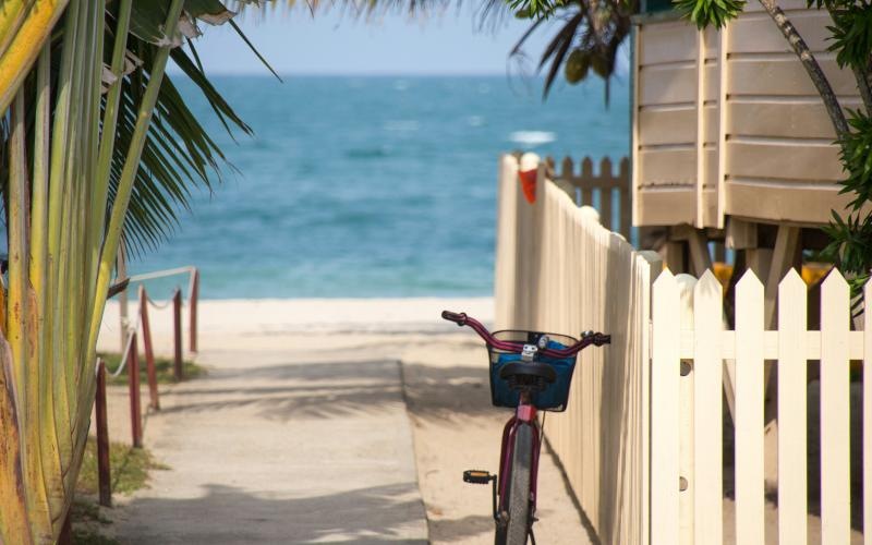
[[[463,481],[492,485],[495,545],[535,545],[536,484],[542,450],[537,411],[566,410],[578,353],[611,341],[609,335],[585,331],[580,340],[540,331],[493,334],[465,313],[443,312],[443,318],[469,326],[485,341],[491,365],[491,398],[496,407],[514,409],[502,428],[499,477],[467,470]],[[543,419],[544,421],[544,419]]]

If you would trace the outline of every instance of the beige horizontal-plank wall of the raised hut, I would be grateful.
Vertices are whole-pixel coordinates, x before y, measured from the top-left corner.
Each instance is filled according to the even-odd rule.
[[[839,70],[834,53],[826,51],[826,10],[809,10],[792,0],[779,5],[843,104],[859,105],[853,75]],[[698,34],[685,21],[642,20],[634,32],[637,225],[723,227],[725,215],[828,222],[831,208],[847,203],[836,185],[843,172],[835,133],[787,41],[755,3],[728,24],[723,39],[713,31],[705,31],[702,39]],[[677,196],[693,187],[693,201],[682,197],[681,206],[663,209],[669,202],[662,197],[665,192]],[[753,198],[756,190],[766,198]]]

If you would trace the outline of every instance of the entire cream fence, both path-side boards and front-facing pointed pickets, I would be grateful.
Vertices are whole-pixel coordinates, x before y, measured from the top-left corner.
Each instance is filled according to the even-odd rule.
[[[602,543],[784,545],[820,533],[827,545],[872,545],[872,532],[860,537],[851,529],[852,471],[862,479],[862,519],[872,523],[872,310],[863,330],[851,330],[844,278],[834,271],[824,282],[821,329],[809,331],[807,287],[791,271],[778,292],[778,329],[765,330],[763,286],[749,272],[737,287],[736,328],[728,330],[714,275],[697,281],[661,272],[662,262],[601,227],[595,210],[577,207],[570,187],[547,180],[544,168],[529,204],[517,169],[513,157],[501,159],[497,326],[613,335],[610,347],[582,353],[569,409],[546,426]],[[816,439],[807,435],[807,370],[816,360],[821,469],[820,483],[809,483],[807,447]],[[863,362],[868,416],[853,470],[852,360]],[[777,532],[765,518],[776,507],[764,484],[764,362],[775,362],[778,382]],[[735,388],[732,468],[723,458],[725,377]],[[735,483],[726,499],[725,470]],[[816,506],[806,498],[818,484],[814,526],[809,512]]]

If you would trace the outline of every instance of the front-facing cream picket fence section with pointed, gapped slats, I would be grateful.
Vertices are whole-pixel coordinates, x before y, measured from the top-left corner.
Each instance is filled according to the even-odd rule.
[[[706,271],[699,281],[681,276],[683,282],[664,271],[653,289],[651,465],[657,471],[651,480],[651,542],[809,543],[819,532],[824,544],[859,541],[851,530],[851,482],[853,476],[855,491],[864,491],[853,506],[855,522],[872,520],[872,419],[862,419],[852,456],[850,361],[863,362],[864,376],[855,384],[862,385],[862,413],[872,415],[872,305],[863,329],[851,330],[848,283],[834,270],[821,290],[821,329],[807,330],[808,288],[790,270],[778,288],[777,330],[766,330],[763,284],[748,271],[736,287],[736,328],[728,330],[715,276]],[[871,296],[872,284],[865,300]],[[776,362],[778,384],[777,531],[765,520],[765,361]],[[808,376],[816,362],[820,405],[812,407]],[[723,459],[727,364],[735,365],[734,433],[726,436],[735,463]],[[808,415],[820,417],[820,437],[809,433],[819,426]],[[725,472],[731,479],[725,480]],[[734,489],[735,509],[725,509],[725,483]],[[814,510],[820,504],[820,525],[809,520],[810,488]],[[855,492],[853,501],[858,497]],[[864,543],[872,543],[871,532]]]

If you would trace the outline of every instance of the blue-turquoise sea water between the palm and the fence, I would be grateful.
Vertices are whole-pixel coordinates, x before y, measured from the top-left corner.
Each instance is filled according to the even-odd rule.
[[[541,81],[505,76],[215,83],[254,136],[234,142],[202,100],[193,110],[239,172],[130,266],[196,265],[208,299],[491,294],[499,155],[629,148],[626,77],[608,108],[598,78],[544,102]],[[159,298],[173,283],[149,286]]]

